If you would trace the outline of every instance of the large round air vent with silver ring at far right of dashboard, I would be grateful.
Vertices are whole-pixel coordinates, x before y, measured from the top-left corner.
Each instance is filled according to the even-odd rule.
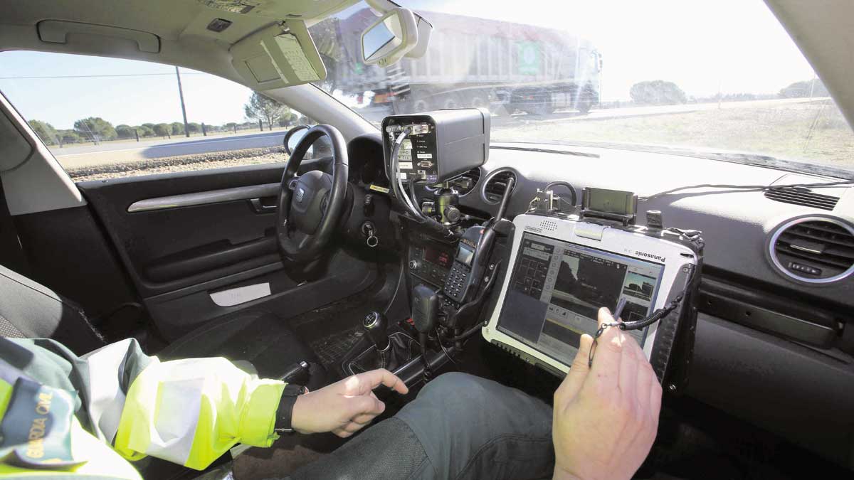
[[[854,272],[854,228],[825,217],[791,220],[771,236],[769,254],[789,278],[810,284],[836,282]]]

